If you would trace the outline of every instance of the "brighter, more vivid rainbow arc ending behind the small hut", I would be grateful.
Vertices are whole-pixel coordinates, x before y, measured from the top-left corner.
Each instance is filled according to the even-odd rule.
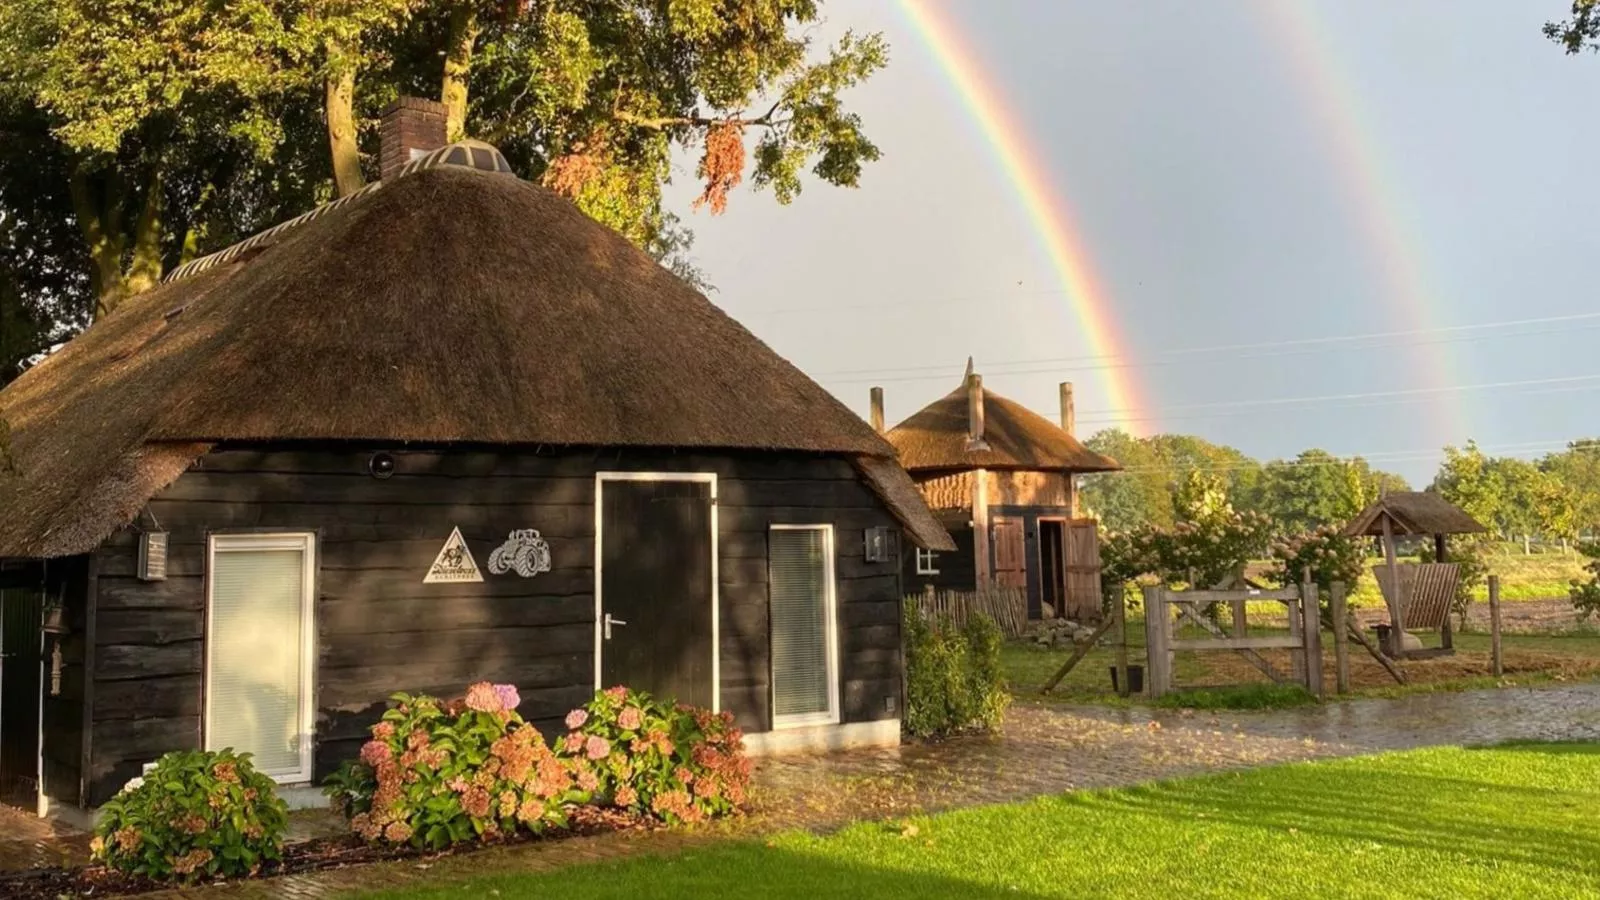
[[[1016,192],[1022,211],[1050,258],[1056,279],[1070,303],[1094,356],[1123,362],[1131,354],[1112,322],[1114,304],[1090,261],[1088,245],[1074,221],[1072,210],[1053,189],[1048,167],[1038,149],[1027,139],[1027,130],[1010,110],[978,54],[962,43],[960,26],[923,0],[898,0],[899,10],[926,45],[939,69],[949,78],[966,114],[978,125],[984,143]],[[1134,423],[1152,428],[1142,391],[1126,367],[1106,368],[1104,392],[1107,413],[1117,428],[1134,431]]]

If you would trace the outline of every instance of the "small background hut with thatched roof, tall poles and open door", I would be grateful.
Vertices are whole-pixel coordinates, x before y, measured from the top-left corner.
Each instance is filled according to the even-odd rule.
[[[883,420],[872,392],[872,420]],[[1101,610],[1099,536],[1078,516],[1075,479],[1112,472],[1117,460],[1074,436],[1072,384],[1061,384],[1061,424],[982,386],[966,362],[962,384],[888,431],[888,442],[955,538],[955,552],[907,551],[909,591],[1027,593],[1029,618],[1080,621]]]

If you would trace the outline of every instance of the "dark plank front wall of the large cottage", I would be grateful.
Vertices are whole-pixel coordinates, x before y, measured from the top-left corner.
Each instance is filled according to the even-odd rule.
[[[179,477],[142,524],[170,532],[168,580],[138,581],[136,532],[96,554],[91,790],[104,802],[142,762],[198,746],[205,540],[211,532],[315,530],[317,778],[352,757],[397,690],[451,695],[474,681],[515,684],[546,732],[594,690],[594,474],[718,474],[722,703],[752,732],[770,724],[766,528],[834,524],[845,721],[896,717],[898,564],[864,560],[864,530],[893,525],[845,460],[664,452],[227,448]],[[152,519],[154,516],[154,519]],[[459,527],[485,581],[422,585]],[[514,528],[539,528],[552,570],[490,575]]]

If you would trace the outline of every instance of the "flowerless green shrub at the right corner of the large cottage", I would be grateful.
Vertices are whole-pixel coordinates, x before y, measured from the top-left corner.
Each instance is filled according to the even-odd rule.
[[[965,628],[906,605],[906,730],[946,735],[994,729],[1011,697],[1000,676],[1000,628],[984,615]]]

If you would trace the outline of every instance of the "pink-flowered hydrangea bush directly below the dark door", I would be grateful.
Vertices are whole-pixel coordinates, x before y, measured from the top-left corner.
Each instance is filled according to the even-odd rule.
[[[566,714],[558,743],[597,801],[670,823],[744,807],[750,759],[731,713],[653,700],[626,687],[597,692]]]

